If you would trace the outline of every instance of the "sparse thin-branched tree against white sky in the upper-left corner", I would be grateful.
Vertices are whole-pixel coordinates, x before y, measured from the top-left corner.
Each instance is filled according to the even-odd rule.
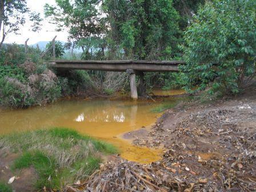
[[[19,28],[26,23],[25,15],[33,22],[32,31],[40,30],[42,19],[27,7],[26,0],[0,0],[0,49],[8,34],[18,34]]]

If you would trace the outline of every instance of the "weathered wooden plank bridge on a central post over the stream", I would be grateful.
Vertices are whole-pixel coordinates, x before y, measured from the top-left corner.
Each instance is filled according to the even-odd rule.
[[[144,61],[144,60],[119,60],[119,61],[69,61],[57,60],[50,62],[56,69],[101,70],[127,72],[130,77],[131,98],[138,99],[135,75],[140,75],[143,81],[143,72],[179,72],[178,65],[184,61]],[[143,89],[143,82],[139,83]]]

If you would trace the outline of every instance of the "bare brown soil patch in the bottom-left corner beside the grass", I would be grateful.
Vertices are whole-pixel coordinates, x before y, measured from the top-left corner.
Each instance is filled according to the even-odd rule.
[[[10,184],[13,191],[37,191],[34,183],[38,177],[33,167],[22,169],[21,171],[11,171],[10,166],[18,157],[18,153],[6,154],[0,150],[0,181],[7,183],[10,178],[15,177],[13,183]]]

